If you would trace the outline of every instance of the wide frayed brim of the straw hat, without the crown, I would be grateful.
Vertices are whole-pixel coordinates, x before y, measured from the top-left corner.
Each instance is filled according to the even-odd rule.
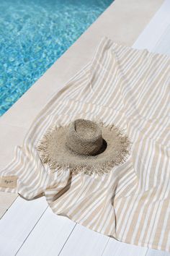
[[[69,168],[73,174],[104,174],[123,163],[128,155],[130,142],[114,125],[101,124],[104,150],[97,155],[77,155],[66,146],[68,127],[53,127],[37,145],[42,163],[52,171]]]

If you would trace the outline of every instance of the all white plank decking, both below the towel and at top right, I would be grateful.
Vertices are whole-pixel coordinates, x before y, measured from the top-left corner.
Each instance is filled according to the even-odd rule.
[[[170,1],[166,0],[133,46],[170,54],[169,13]],[[0,192],[0,218],[0,256],[170,256],[168,252],[117,242],[56,216],[44,197],[27,201]]]

